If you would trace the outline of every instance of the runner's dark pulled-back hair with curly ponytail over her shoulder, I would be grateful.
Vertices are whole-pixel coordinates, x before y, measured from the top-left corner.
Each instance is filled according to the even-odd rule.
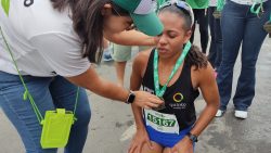
[[[185,12],[179,9],[173,4],[169,7],[165,7],[162,10],[159,10],[159,13],[163,13],[163,12],[176,13],[180,17],[183,17],[185,22],[183,25],[183,29],[186,31],[191,30],[192,20],[191,20],[189,12]],[[194,44],[191,47],[184,62],[188,63],[190,66],[195,66],[196,69],[202,68],[202,67],[207,67],[207,64],[208,64],[207,58],[201,52],[199,48]]]

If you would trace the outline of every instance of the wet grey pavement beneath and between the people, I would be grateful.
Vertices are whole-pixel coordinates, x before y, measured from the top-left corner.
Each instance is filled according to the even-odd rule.
[[[198,42],[198,38],[196,39]],[[233,93],[240,74],[240,59],[234,71]],[[131,62],[127,64],[126,87],[129,85]],[[98,72],[116,81],[114,64],[103,63]],[[199,136],[196,153],[271,153],[271,39],[267,38],[257,63],[256,95],[247,119],[234,117],[230,101],[223,117],[215,118]],[[89,93],[92,118],[83,153],[127,153],[132,133],[133,116],[130,105]],[[197,114],[205,102],[195,101]],[[24,153],[24,146],[10,122],[0,110],[0,153]],[[61,149],[59,152],[63,152]]]

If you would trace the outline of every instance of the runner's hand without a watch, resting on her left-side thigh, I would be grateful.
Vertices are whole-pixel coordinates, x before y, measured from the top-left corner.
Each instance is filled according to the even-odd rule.
[[[146,144],[151,150],[153,149],[146,130],[138,129],[129,146],[128,153],[141,153],[144,144]]]

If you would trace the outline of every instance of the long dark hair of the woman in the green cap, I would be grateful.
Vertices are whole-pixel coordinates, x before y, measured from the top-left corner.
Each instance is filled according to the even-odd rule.
[[[111,3],[114,15],[128,16],[129,13],[114,4],[112,0],[51,0],[53,8],[63,11],[72,9],[74,29],[82,44],[82,58],[100,63],[103,54],[103,15],[104,4]]]

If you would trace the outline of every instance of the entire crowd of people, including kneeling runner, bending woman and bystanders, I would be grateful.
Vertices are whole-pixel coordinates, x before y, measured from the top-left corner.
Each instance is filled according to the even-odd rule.
[[[56,109],[74,111],[65,152],[82,152],[91,118],[86,90],[131,104],[137,132],[129,153],[193,153],[197,137],[227,111],[240,51],[232,101],[234,116],[247,118],[270,23],[271,0],[2,1],[0,105],[27,153],[57,152],[40,143],[43,116]],[[193,44],[196,24],[201,48]],[[133,46],[142,51],[127,90]],[[92,66],[112,60],[118,84]],[[199,92],[206,105],[196,116]]]

